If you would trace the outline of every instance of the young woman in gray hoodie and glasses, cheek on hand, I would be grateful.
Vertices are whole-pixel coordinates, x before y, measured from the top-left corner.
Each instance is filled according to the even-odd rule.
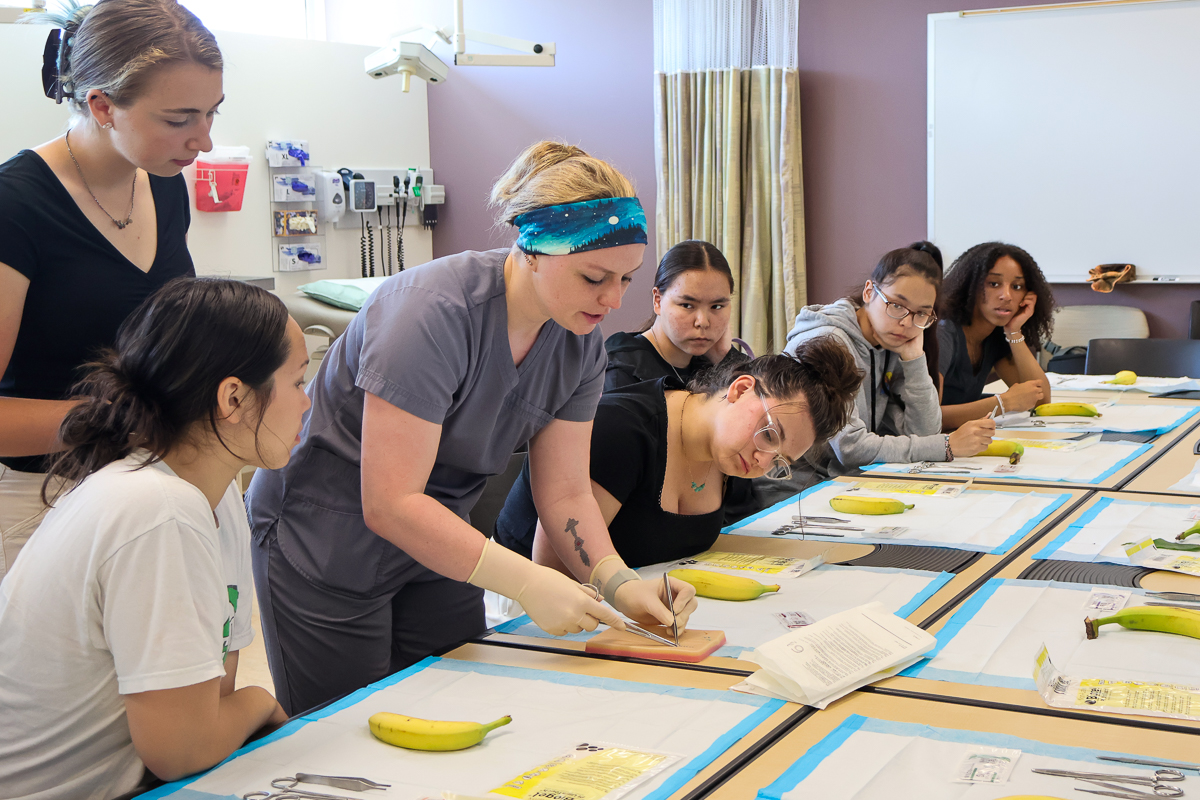
[[[934,312],[941,285],[941,252],[917,242],[884,254],[862,297],[800,309],[786,351],[832,333],[866,373],[850,425],[805,456],[820,475],[845,475],[880,462],[954,461],[988,447],[996,432],[989,419],[941,433]]]

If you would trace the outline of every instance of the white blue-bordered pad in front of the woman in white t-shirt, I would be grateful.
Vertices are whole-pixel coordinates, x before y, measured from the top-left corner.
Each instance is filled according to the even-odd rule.
[[[383,792],[326,792],[355,798],[416,800],[438,798],[443,789],[482,795],[575,745],[602,741],[683,757],[626,795],[629,800],[660,800],[781,705],[736,692],[427,658],[289,723],[264,739],[265,744],[254,742],[200,777],[169,783],[142,798],[241,798],[246,792],[270,790],[271,780],[298,771],[391,784]],[[479,722],[511,714],[512,722],[468,750],[416,752],[371,735],[367,718],[377,711]]]

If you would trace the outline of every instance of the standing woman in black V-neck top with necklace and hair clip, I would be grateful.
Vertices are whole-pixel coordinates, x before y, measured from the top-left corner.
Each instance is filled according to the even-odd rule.
[[[173,0],[102,0],[56,24],[42,80],[66,134],[0,164],[0,576],[37,527],[46,456],[82,367],[155,289],[194,275],[180,170],[212,149],[212,34]]]

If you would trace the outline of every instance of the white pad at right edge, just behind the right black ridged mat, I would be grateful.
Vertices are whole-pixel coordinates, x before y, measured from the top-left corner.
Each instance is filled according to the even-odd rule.
[[[1188,518],[1195,507],[1100,498],[1079,519],[1034,553],[1033,558],[1130,565],[1122,545],[1146,536],[1174,540],[1177,534],[1195,524],[1194,519]],[[1188,541],[1200,543],[1200,536]]]

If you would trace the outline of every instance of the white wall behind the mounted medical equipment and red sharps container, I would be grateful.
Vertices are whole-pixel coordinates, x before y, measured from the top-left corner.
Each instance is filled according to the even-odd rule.
[[[0,161],[60,136],[66,106],[42,94],[42,46],[48,29],[0,24]],[[359,275],[358,231],[326,227],[325,270],[272,272],[268,139],[307,139],[313,163],[338,167],[428,167],[425,83],[406,95],[398,78],[374,80],[362,72],[372,47],[215,31],[224,55],[226,102],[212,126],[221,145],[247,145],[254,156],[241,211],[205,213],[192,203],[188,247],[202,275],[270,276],[276,291],[320,278]],[[194,168],[185,170],[194,192]],[[432,234],[404,231],[406,263],[432,258]],[[378,251],[378,247],[377,247]],[[376,253],[378,261],[379,254]]]

